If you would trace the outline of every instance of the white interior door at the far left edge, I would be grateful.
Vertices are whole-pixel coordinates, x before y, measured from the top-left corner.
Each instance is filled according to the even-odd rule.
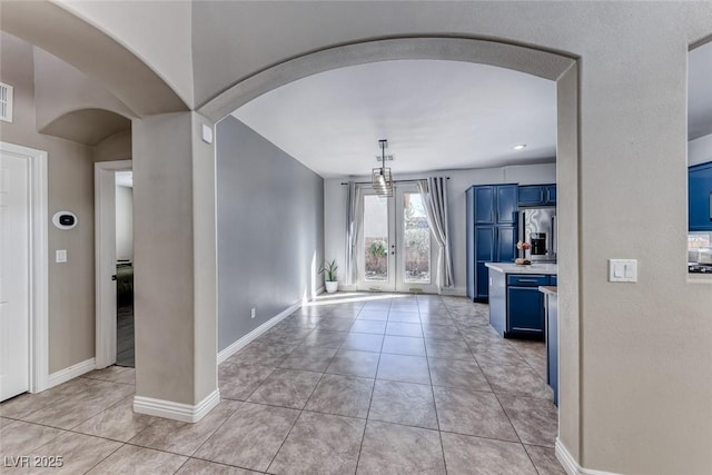
[[[29,160],[0,156],[0,400],[30,388]]]

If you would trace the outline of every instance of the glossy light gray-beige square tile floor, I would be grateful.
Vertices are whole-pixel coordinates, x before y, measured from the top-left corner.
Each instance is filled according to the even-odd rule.
[[[63,463],[0,472],[564,474],[544,345],[501,338],[487,311],[322,296],[219,366],[222,400],[197,424],[134,414],[117,366],[0,404],[2,465]]]

